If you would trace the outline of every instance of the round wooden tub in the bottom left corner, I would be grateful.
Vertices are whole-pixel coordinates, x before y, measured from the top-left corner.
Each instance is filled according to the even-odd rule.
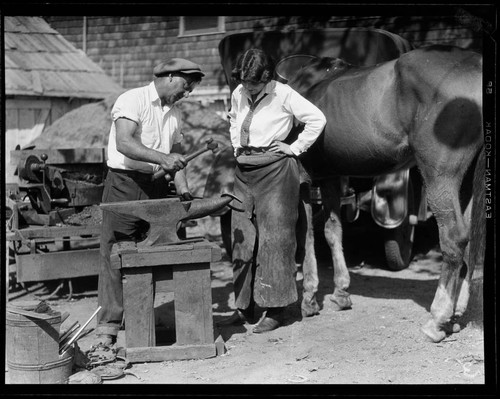
[[[6,312],[6,355],[11,384],[64,384],[73,351],[59,356],[61,313],[42,320]]]

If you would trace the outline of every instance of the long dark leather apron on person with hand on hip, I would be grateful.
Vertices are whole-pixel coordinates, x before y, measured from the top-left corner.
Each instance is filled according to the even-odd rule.
[[[282,307],[297,301],[295,227],[299,172],[291,157],[238,157],[234,194],[246,212],[232,213],[236,307]],[[244,163],[241,163],[244,162]]]

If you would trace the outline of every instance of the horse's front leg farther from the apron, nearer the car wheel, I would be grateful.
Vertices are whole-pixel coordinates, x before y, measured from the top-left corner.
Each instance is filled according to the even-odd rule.
[[[321,197],[325,210],[325,238],[330,246],[333,261],[334,291],[330,296],[336,310],[350,309],[350,294],[347,291],[351,277],[345,263],[342,248],[342,224],[340,221],[340,184],[338,180],[321,184]]]

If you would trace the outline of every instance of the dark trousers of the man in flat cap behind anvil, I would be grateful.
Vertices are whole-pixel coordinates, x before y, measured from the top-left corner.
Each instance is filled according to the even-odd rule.
[[[102,202],[161,198],[164,179],[152,182],[151,175],[108,171]],[[149,228],[145,221],[112,211],[103,211],[100,248],[96,334],[117,335],[123,318],[123,287],[120,270],[111,269],[110,254],[118,241],[140,241]]]

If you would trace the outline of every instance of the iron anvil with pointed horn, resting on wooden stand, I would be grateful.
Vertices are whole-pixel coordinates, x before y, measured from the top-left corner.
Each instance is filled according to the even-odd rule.
[[[241,202],[232,194],[222,194],[220,198],[181,201],[180,198],[162,198],[142,201],[110,202],[100,205],[103,211],[123,213],[138,217],[150,225],[148,236],[137,243],[137,247],[165,245],[178,241],[177,225],[180,222],[208,216],[225,206],[236,211],[229,203]]]

